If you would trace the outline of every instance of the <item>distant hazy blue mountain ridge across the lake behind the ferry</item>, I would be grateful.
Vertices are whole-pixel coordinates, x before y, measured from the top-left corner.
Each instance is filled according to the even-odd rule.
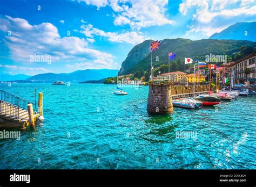
[[[65,82],[83,82],[90,80],[100,80],[106,77],[113,77],[117,75],[117,70],[114,69],[86,69],[78,70],[69,74],[38,74],[27,79],[27,81],[33,82],[53,82],[53,81],[65,81]]]

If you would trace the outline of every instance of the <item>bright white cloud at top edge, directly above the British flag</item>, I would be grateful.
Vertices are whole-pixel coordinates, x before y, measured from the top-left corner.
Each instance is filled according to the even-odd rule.
[[[174,24],[165,16],[168,0],[79,0],[87,5],[110,6],[114,15],[114,25],[130,25],[139,30],[142,27]]]

